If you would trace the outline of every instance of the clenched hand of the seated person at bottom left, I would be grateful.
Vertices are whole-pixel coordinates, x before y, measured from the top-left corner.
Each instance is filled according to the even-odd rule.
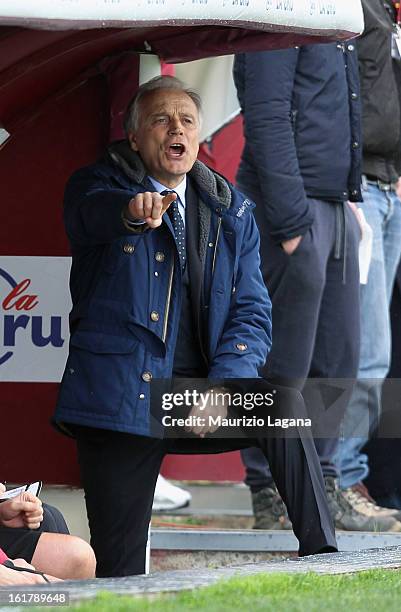
[[[37,529],[43,520],[42,502],[32,493],[21,493],[0,504],[0,525]]]

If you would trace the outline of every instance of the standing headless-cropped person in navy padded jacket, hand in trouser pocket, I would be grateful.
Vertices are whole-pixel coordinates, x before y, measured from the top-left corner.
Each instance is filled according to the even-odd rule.
[[[237,185],[255,203],[262,273],[272,300],[273,344],[263,376],[305,392],[309,378],[347,379],[359,363],[361,125],[355,44],[308,45],[236,56],[245,147]],[[338,487],[339,421],[315,440],[336,527],[401,530],[393,517],[359,513]],[[308,401],[323,411],[323,399]],[[317,405],[319,404],[319,405]],[[341,404],[341,405],[340,405]],[[337,427],[337,429],[336,429]],[[256,528],[288,528],[286,509],[258,449],[242,452]]]

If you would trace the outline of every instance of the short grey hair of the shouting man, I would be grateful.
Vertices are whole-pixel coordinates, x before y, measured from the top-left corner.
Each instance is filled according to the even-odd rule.
[[[172,76],[157,76],[146,83],[141,85],[134,97],[128,104],[127,110],[124,117],[124,130],[126,135],[130,132],[136,132],[139,127],[139,113],[142,99],[151,91],[157,91],[158,89],[176,89],[183,91],[187,94],[195,104],[198,111],[199,120],[202,116],[202,100],[200,95],[186,85],[180,79]]]

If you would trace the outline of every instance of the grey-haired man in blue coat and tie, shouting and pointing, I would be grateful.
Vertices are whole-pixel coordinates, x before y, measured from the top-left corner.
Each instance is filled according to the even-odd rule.
[[[66,190],[72,333],[55,419],[77,438],[99,576],[144,571],[157,474],[179,447],[151,431],[152,378],[255,378],[271,344],[253,205],[196,160],[199,123],[195,92],[152,79],[128,107],[126,141]],[[247,445],[205,438],[212,429],[194,424],[197,444],[179,450]],[[301,554],[335,550],[311,441],[256,443]]]

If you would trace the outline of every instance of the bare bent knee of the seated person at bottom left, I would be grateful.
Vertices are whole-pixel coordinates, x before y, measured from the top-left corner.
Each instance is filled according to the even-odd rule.
[[[31,563],[40,572],[65,580],[95,577],[95,554],[87,542],[76,536],[42,533]]]

